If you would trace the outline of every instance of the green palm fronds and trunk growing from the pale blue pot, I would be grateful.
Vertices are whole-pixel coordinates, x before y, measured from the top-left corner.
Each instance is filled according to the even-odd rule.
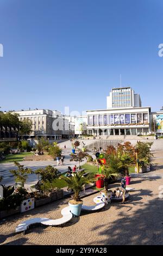
[[[87,176],[83,176],[84,171],[79,173],[74,173],[71,177],[61,176],[61,179],[65,180],[68,184],[68,187],[71,188],[74,192],[73,199],[76,202],[80,201],[79,193],[82,191],[83,186],[89,184],[93,180],[93,173],[90,173]],[[94,178],[95,179],[95,178]]]

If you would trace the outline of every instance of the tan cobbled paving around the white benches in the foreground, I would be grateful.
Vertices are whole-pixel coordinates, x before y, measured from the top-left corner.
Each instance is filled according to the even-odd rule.
[[[28,218],[60,218],[69,199],[58,200],[1,220],[1,245],[162,245],[163,149],[160,142],[157,148],[153,151],[153,170],[132,175],[130,187],[135,189],[126,204],[112,202],[99,212],[82,212],[64,227],[38,224],[30,227],[26,235],[15,234],[16,226]],[[110,188],[118,185],[112,184]],[[83,198],[84,204],[94,204],[93,198],[97,195]]]

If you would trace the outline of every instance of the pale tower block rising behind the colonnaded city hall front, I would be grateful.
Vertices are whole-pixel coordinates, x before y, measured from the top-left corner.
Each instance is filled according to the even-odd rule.
[[[141,107],[141,98],[131,87],[112,88],[107,96],[107,108]]]

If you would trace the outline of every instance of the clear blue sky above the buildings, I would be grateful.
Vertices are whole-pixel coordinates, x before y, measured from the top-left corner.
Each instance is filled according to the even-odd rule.
[[[0,106],[106,108],[112,87],[163,105],[162,0],[1,0]]]

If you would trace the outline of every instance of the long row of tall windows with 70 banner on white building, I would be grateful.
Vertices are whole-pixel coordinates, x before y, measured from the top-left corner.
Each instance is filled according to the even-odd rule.
[[[88,125],[148,124],[148,113],[88,115]]]

